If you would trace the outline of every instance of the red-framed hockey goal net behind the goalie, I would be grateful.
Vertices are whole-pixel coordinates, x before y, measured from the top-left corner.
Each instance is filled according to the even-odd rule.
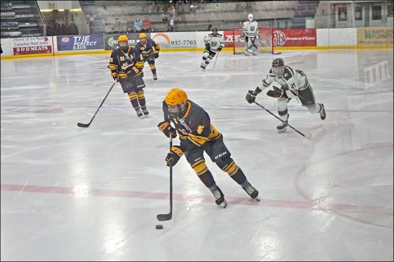
[[[232,29],[232,43],[233,43],[233,54],[239,55],[245,52],[245,40],[240,39],[242,28]],[[273,32],[272,27],[259,27],[260,38],[255,41],[258,47],[259,54],[272,54],[279,55],[281,52],[274,52],[273,47]]]

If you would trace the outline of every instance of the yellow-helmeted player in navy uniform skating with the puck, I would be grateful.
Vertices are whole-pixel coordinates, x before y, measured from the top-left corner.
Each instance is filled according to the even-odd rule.
[[[166,137],[171,135],[175,138],[179,135],[180,140],[180,145],[172,146],[168,152],[165,158],[167,166],[175,166],[185,155],[198,178],[214,195],[216,204],[226,207],[225,196],[205,164],[205,152],[251,198],[259,200],[259,191],[249,183],[241,168],[231,158],[222,134],[215,129],[208,113],[189,100],[184,90],[173,88],[167,93],[163,101],[163,113],[164,121],[158,124],[159,130]]]

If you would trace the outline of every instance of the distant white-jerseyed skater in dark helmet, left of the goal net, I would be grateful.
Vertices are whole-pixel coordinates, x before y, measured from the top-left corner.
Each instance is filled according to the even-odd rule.
[[[205,69],[209,62],[212,60],[212,58],[226,45],[226,41],[223,38],[223,35],[218,33],[218,28],[214,27],[212,28],[212,33],[206,35],[204,37],[204,45],[205,45],[205,50],[204,53],[202,54],[202,60],[201,60],[201,65],[200,67],[202,69]]]

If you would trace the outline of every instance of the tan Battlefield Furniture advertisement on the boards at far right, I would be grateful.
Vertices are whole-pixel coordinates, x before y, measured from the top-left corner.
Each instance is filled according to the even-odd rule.
[[[358,28],[358,45],[393,45],[393,28]]]

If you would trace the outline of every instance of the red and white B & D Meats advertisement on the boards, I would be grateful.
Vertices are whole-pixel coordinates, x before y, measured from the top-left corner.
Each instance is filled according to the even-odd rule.
[[[14,56],[52,53],[52,38],[47,36],[13,38]]]

